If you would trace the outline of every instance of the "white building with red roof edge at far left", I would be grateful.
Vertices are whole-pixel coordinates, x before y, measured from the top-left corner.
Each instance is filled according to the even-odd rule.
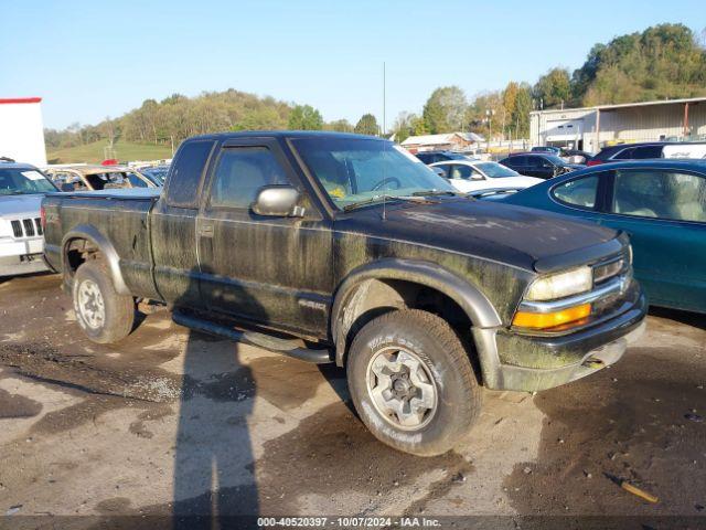
[[[46,166],[41,97],[0,98],[0,157]]]

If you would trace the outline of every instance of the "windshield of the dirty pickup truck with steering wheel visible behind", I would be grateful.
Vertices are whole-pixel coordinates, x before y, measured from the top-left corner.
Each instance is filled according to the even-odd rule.
[[[359,203],[456,193],[443,178],[391,141],[301,138],[292,141],[311,174],[340,209]]]

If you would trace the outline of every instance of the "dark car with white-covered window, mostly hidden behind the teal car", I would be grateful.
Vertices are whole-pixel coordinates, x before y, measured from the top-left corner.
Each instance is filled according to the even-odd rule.
[[[588,161],[588,166],[598,166],[623,160],[645,160],[653,158],[706,158],[706,142],[698,141],[644,141],[621,144],[602,148]]]

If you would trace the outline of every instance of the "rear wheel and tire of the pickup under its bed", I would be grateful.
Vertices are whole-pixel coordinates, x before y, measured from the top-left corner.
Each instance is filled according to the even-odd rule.
[[[76,320],[94,342],[118,342],[132,330],[135,299],[115,290],[101,259],[90,259],[78,267],[72,295]]]

